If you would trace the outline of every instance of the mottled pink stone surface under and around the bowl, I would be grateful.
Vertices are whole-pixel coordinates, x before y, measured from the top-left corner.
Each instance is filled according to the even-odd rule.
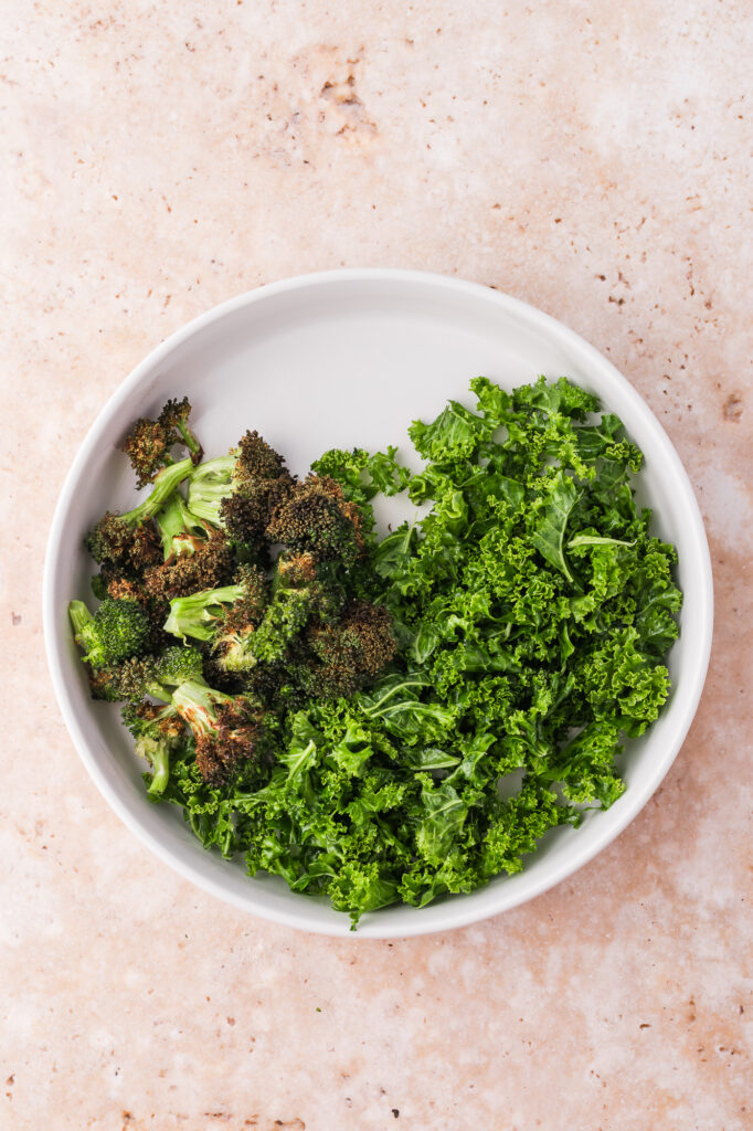
[[[752,33],[744,0],[3,5],[0,1128],[753,1126]],[[487,283],[612,357],[695,484],[718,603],[696,722],[615,844],[491,922],[356,946],[139,846],[40,616],[126,373],[338,265]]]

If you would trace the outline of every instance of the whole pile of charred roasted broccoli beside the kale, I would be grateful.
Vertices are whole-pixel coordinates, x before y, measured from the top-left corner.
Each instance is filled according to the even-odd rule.
[[[152,491],[92,530],[102,604],[70,606],[93,697],[124,705],[149,794],[183,804],[199,779],[213,797],[240,774],[244,787],[266,782],[289,719],[362,690],[396,648],[389,614],[354,599],[372,545],[366,492],[297,482],[258,432],[200,463],[189,413],[171,400],[131,429],[124,451]]]

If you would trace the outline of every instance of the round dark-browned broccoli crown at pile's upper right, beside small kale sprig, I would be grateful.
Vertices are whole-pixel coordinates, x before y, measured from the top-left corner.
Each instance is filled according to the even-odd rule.
[[[276,507],[267,537],[296,553],[344,566],[353,564],[364,547],[358,508],[345,499],[336,480],[319,475],[308,475],[292,487]]]

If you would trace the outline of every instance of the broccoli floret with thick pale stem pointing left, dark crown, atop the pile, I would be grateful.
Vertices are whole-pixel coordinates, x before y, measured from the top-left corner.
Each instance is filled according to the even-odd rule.
[[[246,432],[228,456],[196,468],[189,507],[233,541],[261,549],[267,524],[292,485],[282,456],[258,432]]]

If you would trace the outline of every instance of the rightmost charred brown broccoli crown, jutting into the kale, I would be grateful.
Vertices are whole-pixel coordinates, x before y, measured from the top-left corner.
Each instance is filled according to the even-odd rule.
[[[389,612],[365,601],[353,602],[339,623],[314,625],[308,640],[317,663],[304,668],[304,685],[323,699],[352,696],[397,651]]]

